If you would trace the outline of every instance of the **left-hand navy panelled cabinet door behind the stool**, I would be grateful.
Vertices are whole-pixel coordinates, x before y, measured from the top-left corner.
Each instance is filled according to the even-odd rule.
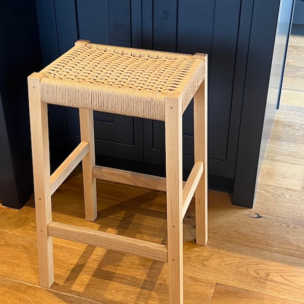
[[[132,2],[131,8],[131,3],[124,0],[54,0],[54,9],[49,9],[48,13],[50,16],[55,14],[53,28],[57,31],[58,49],[49,56],[49,61],[69,50],[78,39],[131,47],[131,9],[136,12],[138,7]],[[41,19],[44,13],[38,11]],[[134,19],[137,22],[132,23],[133,30],[137,26],[141,31],[141,18],[140,22],[138,18]],[[137,39],[136,43],[140,44],[136,47],[141,47],[141,41]],[[80,141],[78,109],[50,105],[49,113],[51,144],[54,146],[52,149],[51,145],[51,150],[56,154],[57,147],[61,146],[67,153]],[[94,112],[94,127],[97,155],[143,160],[141,119]]]

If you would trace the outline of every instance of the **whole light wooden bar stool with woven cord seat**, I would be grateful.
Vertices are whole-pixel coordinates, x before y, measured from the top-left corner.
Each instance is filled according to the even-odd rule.
[[[169,263],[169,303],[183,302],[182,221],[195,193],[197,243],[207,242],[207,55],[80,40],[28,78],[40,285],[54,282],[52,237]],[[195,165],[182,181],[182,113],[194,97]],[[47,104],[79,108],[81,143],[50,175]],[[165,121],[166,178],[95,165],[93,110]],[[86,219],[97,217],[96,178],[167,192],[168,245],[52,221],[51,195],[82,161]]]

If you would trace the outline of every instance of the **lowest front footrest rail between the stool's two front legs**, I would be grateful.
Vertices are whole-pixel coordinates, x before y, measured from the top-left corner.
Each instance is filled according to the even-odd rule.
[[[140,255],[158,261],[167,261],[167,248],[161,244],[58,222],[51,222],[48,224],[48,234],[49,236],[69,241]]]

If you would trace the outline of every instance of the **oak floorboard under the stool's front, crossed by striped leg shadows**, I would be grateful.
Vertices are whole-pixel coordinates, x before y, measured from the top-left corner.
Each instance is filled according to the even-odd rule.
[[[37,285],[34,240],[1,233],[0,276]],[[13,241],[12,241],[13,240]],[[225,248],[226,246],[226,248]],[[2,247],[1,247],[2,248]],[[7,250],[9,248],[9,250]],[[16,263],[22,252],[21,265]],[[304,268],[254,256],[278,256],[261,250],[210,241],[207,247],[184,244],[185,303],[210,303],[216,282],[300,300],[304,296]],[[24,254],[24,253],[23,253]],[[51,290],[72,293],[105,304],[168,303],[167,264],[105,250],[69,250],[54,244],[55,283]],[[297,260],[299,265],[302,259]],[[127,299],[127,300],[126,300]]]

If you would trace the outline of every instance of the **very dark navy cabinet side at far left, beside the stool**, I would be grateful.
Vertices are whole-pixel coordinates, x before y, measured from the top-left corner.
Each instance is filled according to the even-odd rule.
[[[33,192],[27,76],[42,68],[34,0],[0,2],[0,199],[21,208]]]

